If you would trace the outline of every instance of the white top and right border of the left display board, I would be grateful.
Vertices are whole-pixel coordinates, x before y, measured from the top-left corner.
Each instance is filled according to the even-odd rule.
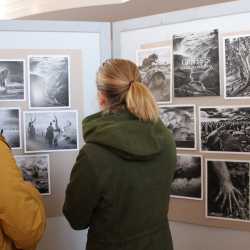
[[[98,109],[95,74],[111,56],[110,23],[4,21],[0,35],[0,49],[81,49],[84,115]]]

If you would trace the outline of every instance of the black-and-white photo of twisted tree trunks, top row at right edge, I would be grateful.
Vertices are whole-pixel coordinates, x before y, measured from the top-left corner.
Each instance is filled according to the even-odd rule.
[[[224,38],[224,96],[250,98],[250,35]]]

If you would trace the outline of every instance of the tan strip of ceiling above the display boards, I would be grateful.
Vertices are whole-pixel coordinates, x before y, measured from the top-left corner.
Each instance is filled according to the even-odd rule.
[[[62,0],[59,1],[61,4]],[[232,0],[130,0],[128,2],[123,2],[124,3],[120,4],[110,4],[84,8],[71,8],[37,15],[26,15],[20,19],[65,21],[119,21],[175,10],[183,10],[205,5],[232,2]]]

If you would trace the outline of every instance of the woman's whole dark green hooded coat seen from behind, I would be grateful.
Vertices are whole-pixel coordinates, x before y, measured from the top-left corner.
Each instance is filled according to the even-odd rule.
[[[167,213],[176,148],[161,121],[127,111],[83,121],[86,144],[73,167],[64,215],[89,228],[88,250],[172,250]]]

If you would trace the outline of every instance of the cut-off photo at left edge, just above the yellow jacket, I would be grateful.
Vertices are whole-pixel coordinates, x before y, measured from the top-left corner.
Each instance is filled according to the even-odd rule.
[[[0,108],[0,133],[12,149],[21,149],[21,121],[19,108]]]

